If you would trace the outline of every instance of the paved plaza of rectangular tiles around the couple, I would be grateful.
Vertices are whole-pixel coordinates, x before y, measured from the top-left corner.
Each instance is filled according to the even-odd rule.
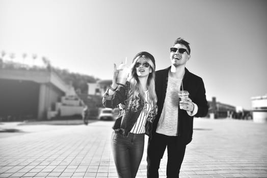
[[[0,123],[0,177],[117,177],[113,122],[18,124]],[[137,177],[146,177],[146,145]],[[267,124],[195,118],[180,177],[267,177],[266,148]],[[160,177],[166,164],[167,153]]]

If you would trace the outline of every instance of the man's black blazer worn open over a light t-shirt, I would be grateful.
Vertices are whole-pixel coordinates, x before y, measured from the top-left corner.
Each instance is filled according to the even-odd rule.
[[[157,115],[153,122],[152,134],[155,133],[159,117],[161,116],[166,91],[168,84],[168,74],[171,67],[167,69],[156,71],[155,77],[155,90],[157,95]],[[206,92],[204,83],[201,77],[191,73],[185,68],[185,73],[182,79],[183,90],[189,92],[189,98],[198,106],[198,112],[195,117],[204,117],[208,112],[208,104],[206,100]],[[180,88],[181,90],[181,88]],[[193,135],[193,118],[194,116],[188,115],[185,110],[179,108],[178,110],[178,141],[188,144],[192,140]]]

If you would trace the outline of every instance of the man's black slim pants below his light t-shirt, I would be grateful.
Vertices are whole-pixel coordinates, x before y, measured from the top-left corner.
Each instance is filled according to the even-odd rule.
[[[178,136],[167,136],[155,133],[148,140],[147,147],[147,178],[158,178],[158,168],[166,150],[168,151],[167,177],[179,177],[185,153],[185,144],[178,144]]]

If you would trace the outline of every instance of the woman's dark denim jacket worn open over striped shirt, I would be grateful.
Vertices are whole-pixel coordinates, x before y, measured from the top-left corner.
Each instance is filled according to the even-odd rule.
[[[118,104],[122,103],[125,105],[125,110],[122,116],[119,116],[113,126],[116,133],[121,133],[122,135],[128,137],[130,130],[137,122],[137,119],[143,110],[144,103],[140,102],[137,110],[131,110],[128,107],[128,92],[130,83],[127,81],[124,86],[121,86],[113,95],[109,95],[109,89],[105,92],[103,96],[103,106],[109,108],[115,108]],[[146,121],[146,135],[151,136],[152,132],[152,122]]]

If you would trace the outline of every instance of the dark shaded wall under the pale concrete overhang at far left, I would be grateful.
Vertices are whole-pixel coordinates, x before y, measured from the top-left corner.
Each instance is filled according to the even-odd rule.
[[[34,81],[0,79],[0,116],[36,118],[38,97],[39,84]]]

